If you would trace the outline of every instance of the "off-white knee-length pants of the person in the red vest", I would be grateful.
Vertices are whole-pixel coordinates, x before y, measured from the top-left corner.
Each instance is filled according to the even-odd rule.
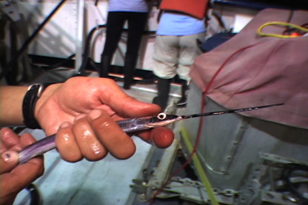
[[[190,81],[190,66],[202,53],[196,39],[204,37],[205,32],[183,36],[158,35],[154,45],[153,73],[164,79],[178,74],[181,79]]]

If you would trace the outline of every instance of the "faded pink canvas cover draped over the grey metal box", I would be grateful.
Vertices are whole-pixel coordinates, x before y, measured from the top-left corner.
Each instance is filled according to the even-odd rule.
[[[308,128],[308,36],[261,37],[257,29],[268,22],[308,22],[307,11],[265,9],[243,30],[216,49],[195,59],[191,78],[205,91],[214,74],[235,52],[247,46],[218,73],[207,96],[227,109],[285,103],[240,114]],[[265,33],[282,34],[285,27],[268,26]]]

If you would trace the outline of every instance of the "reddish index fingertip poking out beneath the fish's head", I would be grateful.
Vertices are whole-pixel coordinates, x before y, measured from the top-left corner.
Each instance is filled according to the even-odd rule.
[[[158,127],[150,131],[142,131],[139,135],[143,140],[158,148],[167,148],[174,141],[175,134],[166,127]]]

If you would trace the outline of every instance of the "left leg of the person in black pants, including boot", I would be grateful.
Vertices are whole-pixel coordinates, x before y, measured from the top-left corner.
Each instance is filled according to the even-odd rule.
[[[123,12],[109,12],[106,23],[106,40],[101,55],[100,77],[108,77],[112,55],[117,49],[122,33],[125,16]]]

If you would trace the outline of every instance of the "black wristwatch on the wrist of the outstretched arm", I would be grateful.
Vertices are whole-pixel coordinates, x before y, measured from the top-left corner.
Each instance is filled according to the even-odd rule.
[[[33,84],[29,86],[22,105],[24,124],[27,128],[41,129],[41,126],[34,117],[34,109],[36,101],[41,97],[44,89],[52,84],[54,83]]]

